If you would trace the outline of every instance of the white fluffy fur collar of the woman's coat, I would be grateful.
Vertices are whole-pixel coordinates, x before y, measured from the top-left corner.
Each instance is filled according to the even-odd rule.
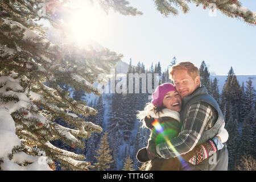
[[[179,112],[166,108],[166,109],[163,109],[162,111],[160,111],[159,115],[158,115],[154,108],[155,108],[154,105],[152,105],[151,103],[148,103],[146,105],[146,107],[144,108],[144,110],[139,111],[139,113],[137,114],[137,118],[140,121],[143,121],[146,116],[150,115],[152,118],[171,117],[180,122],[180,113]]]

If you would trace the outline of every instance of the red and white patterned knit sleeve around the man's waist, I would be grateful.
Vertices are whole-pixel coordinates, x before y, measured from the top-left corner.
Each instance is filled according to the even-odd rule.
[[[188,162],[193,165],[197,165],[216,152],[217,147],[215,146],[214,142],[212,140],[208,140],[207,142],[200,144],[199,149],[196,151],[196,155],[193,156]]]

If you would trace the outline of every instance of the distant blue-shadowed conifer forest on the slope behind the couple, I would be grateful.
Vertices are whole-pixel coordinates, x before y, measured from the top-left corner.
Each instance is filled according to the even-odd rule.
[[[176,57],[170,61],[170,65],[176,63]],[[159,73],[159,84],[171,82],[168,78],[168,69],[162,71],[160,62],[158,65],[151,65],[151,69],[144,69],[144,64],[138,62],[137,65],[130,65],[120,61],[115,69],[116,76],[127,73]],[[247,160],[255,159],[255,84],[256,75],[238,75],[230,68],[228,75],[210,76],[207,65],[203,61],[200,67],[202,84],[208,87],[210,94],[218,101],[226,119],[226,129],[229,131],[228,150],[229,150],[229,169],[245,169],[240,163],[246,158]],[[218,79],[217,79],[217,78]],[[233,81],[230,81],[233,80]],[[134,79],[135,81],[135,79]],[[118,81],[117,81],[118,82]],[[119,81],[121,82],[121,80]],[[224,85],[221,88],[219,85]],[[109,82],[109,87],[111,82]],[[140,82],[141,86],[141,82]],[[129,86],[127,86],[129,88]],[[224,96],[228,89],[234,90],[234,100],[229,94]],[[221,90],[220,90],[221,89]],[[147,146],[147,139],[150,131],[141,127],[142,123],[136,118],[138,110],[143,110],[147,102],[150,102],[150,94],[143,93],[103,93],[102,96],[85,94],[83,92],[71,92],[76,99],[82,99],[89,102],[89,106],[98,110],[98,114],[89,119],[96,125],[102,126],[101,134],[92,134],[92,137],[85,141],[85,149],[77,148],[76,152],[84,154],[86,159],[91,163],[96,163],[96,151],[99,148],[101,138],[105,133],[109,136],[109,150],[113,157],[113,163],[110,164],[109,170],[122,170],[126,159],[130,157],[133,160],[132,169],[139,170],[142,163],[136,159],[138,150]],[[250,103],[250,104],[247,104]],[[232,109],[231,108],[236,108]],[[239,110],[237,112],[237,110]],[[252,126],[252,127],[250,127]],[[243,137],[242,137],[243,136]],[[244,141],[244,142],[242,142]],[[247,142],[245,142],[247,141]],[[64,146],[63,146],[64,147]],[[65,146],[68,147],[68,146]],[[68,147],[69,150],[75,151],[74,148]],[[240,165],[238,165],[240,164]]]

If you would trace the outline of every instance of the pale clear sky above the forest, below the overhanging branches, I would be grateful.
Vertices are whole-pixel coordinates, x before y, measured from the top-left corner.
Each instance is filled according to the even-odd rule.
[[[204,60],[209,71],[228,73],[232,66],[237,75],[256,75],[256,26],[229,18],[217,11],[189,3],[187,14],[164,17],[151,0],[129,0],[143,15],[124,16],[110,12],[108,28],[97,40],[111,51],[123,53],[123,61],[133,65],[143,62],[146,68],[160,61],[162,70],[176,56],[177,61],[192,61],[200,66]],[[241,0],[242,5],[256,11],[256,1]],[[105,22],[106,23],[106,22]]]

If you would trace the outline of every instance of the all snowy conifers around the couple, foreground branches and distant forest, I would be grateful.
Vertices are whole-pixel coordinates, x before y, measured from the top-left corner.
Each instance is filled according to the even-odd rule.
[[[171,82],[161,61],[122,61],[122,53],[90,42],[69,42],[70,0],[0,1],[0,170],[144,170],[136,154],[147,146],[150,130],[138,111],[156,86]],[[143,13],[126,0],[97,0],[126,16]],[[154,1],[168,16],[189,10],[187,3],[255,25],[255,12],[238,0]],[[213,3],[214,2],[214,3]],[[42,23],[42,21],[45,21]],[[44,23],[50,24],[47,29]],[[46,23],[46,24],[47,24]],[[200,65],[201,84],[225,117],[229,170],[255,170],[256,75],[210,75]]]

